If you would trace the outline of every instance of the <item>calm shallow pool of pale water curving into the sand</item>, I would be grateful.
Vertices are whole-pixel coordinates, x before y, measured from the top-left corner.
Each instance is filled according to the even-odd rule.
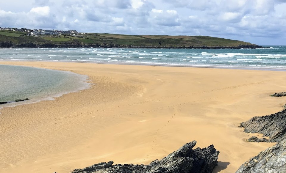
[[[59,70],[0,65],[0,102],[30,99],[1,104],[0,108],[47,100],[63,93],[85,89],[88,87],[86,78],[87,76]]]

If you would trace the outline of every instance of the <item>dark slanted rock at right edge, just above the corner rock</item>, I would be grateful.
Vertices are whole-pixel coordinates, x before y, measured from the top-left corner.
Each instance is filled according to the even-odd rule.
[[[279,142],[286,139],[286,109],[275,114],[253,117],[240,124],[245,133],[262,133],[269,136],[268,142]]]

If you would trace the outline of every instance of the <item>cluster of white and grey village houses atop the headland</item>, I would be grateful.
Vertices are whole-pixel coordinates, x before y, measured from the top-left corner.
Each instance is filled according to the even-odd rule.
[[[2,28],[0,30],[6,31],[15,31],[15,32],[25,32],[29,36],[40,36],[40,35],[61,35],[61,34],[78,34],[76,30],[68,30],[68,31],[61,31],[61,30],[44,30],[44,29],[26,29],[26,28]],[[84,33],[81,33],[84,34]]]

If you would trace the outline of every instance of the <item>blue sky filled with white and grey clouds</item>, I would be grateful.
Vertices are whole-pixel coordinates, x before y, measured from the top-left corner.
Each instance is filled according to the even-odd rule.
[[[286,0],[1,0],[0,27],[286,45],[285,9]]]

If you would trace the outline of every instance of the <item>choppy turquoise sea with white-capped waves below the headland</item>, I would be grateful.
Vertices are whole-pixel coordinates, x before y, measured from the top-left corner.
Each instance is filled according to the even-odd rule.
[[[286,69],[286,46],[262,49],[0,49],[0,60]]]

